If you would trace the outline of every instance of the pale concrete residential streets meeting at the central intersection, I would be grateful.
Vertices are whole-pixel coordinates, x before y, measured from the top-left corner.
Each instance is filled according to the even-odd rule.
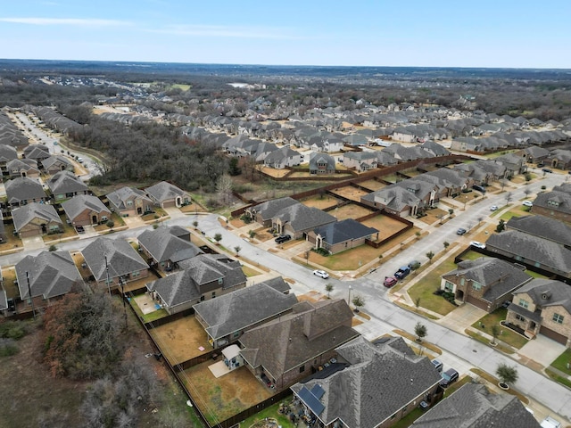
[[[535,193],[541,191],[542,185],[545,185],[550,189],[553,185],[558,185],[563,181],[567,181],[567,176],[550,174],[533,184],[520,185],[516,190],[511,191],[511,201],[512,203],[519,203],[518,200],[525,197],[524,192],[526,187],[532,191],[530,196],[530,198],[532,198]],[[513,386],[517,391],[521,391],[525,396],[534,400],[534,402],[539,403],[536,408],[539,407],[542,410],[539,412],[536,410],[536,417],[539,418],[543,414],[557,414],[559,416],[565,416],[567,420],[571,420],[571,391],[564,386],[561,386],[559,383],[552,382],[546,375],[525,366],[525,364],[518,360],[518,358],[521,357],[518,354],[515,354],[512,358],[500,351],[494,350],[492,347],[476,342],[463,333],[459,333],[462,331],[462,328],[473,322],[468,321],[469,319],[473,318],[476,320],[481,317],[481,314],[478,314],[477,312],[470,313],[469,310],[463,309],[470,309],[470,305],[466,305],[465,307],[456,309],[452,312],[453,314],[459,314],[458,316],[461,315],[462,317],[466,317],[462,320],[459,318],[455,319],[454,317],[457,317],[457,315],[444,317],[440,320],[431,320],[426,317],[420,317],[410,310],[403,309],[400,306],[395,305],[393,303],[393,299],[395,296],[398,297],[398,293],[395,293],[395,296],[389,296],[387,294],[387,289],[382,285],[383,279],[386,275],[392,275],[395,270],[397,270],[401,265],[407,264],[411,259],[418,259],[423,264],[426,264],[426,252],[434,251],[437,253],[439,251],[444,251],[442,244],[443,241],[448,241],[450,243],[458,242],[460,245],[468,245],[469,237],[460,237],[456,235],[458,227],[463,226],[468,228],[468,226],[476,226],[480,223],[480,226],[476,226],[476,228],[488,228],[490,230],[495,228],[498,217],[489,217],[489,207],[492,204],[496,204],[502,209],[506,205],[505,194],[506,193],[487,195],[483,202],[478,202],[476,205],[468,205],[465,211],[457,210],[456,217],[451,218],[442,226],[438,225],[437,227],[427,227],[426,230],[430,232],[428,236],[418,241],[415,240],[415,242],[411,243],[406,250],[400,251],[398,254],[394,255],[393,258],[387,260],[387,262],[381,265],[381,267],[375,272],[345,281],[340,281],[334,277],[330,277],[327,280],[319,278],[318,276],[312,275],[314,268],[303,266],[303,264],[295,263],[289,258],[278,255],[278,252],[281,250],[274,250],[278,252],[271,252],[261,249],[261,244],[252,244],[249,239],[241,237],[239,232],[234,230],[231,226],[229,226],[230,228],[222,226],[224,221],[222,221],[221,224],[219,221],[220,218],[216,214],[185,215],[178,210],[170,210],[171,218],[165,223],[168,225],[186,226],[192,230],[193,234],[199,235],[192,227],[193,221],[197,220],[199,223],[198,227],[200,231],[204,233],[206,238],[211,238],[217,233],[221,234],[222,246],[227,249],[233,249],[236,246],[240,246],[242,249],[240,251],[240,257],[242,259],[251,260],[252,263],[254,263],[254,267],[257,264],[271,269],[274,273],[273,275],[281,275],[286,278],[290,278],[294,283],[291,284],[292,289],[297,294],[302,294],[312,290],[327,294],[327,292],[325,292],[325,285],[328,283],[334,285],[334,291],[331,292],[331,297],[333,298],[349,300],[350,293],[353,293],[353,296],[355,293],[359,293],[363,296],[366,302],[363,311],[366,312],[371,319],[365,320],[365,322],[358,325],[356,329],[369,340],[384,333],[393,333],[394,329],[414,333],[414,327],[416,323],[420,321],[427,327],[427,335],[425,338],[426,342],[433,343],[443,350],[443,355],[439,357],[439,359],[443,361],[444,366],[453,366],[460,374],[468,374],[471,367],[478,367],[490,374],[494,374],[496,367],[502,362],[511,366],[515,365],[517,366],[519,379]],[[484,218],[484,220],[480,221],[481,218]],[[113,239],[136,238],[144,230],[152,228],[152,226],[133,226],[133,228],[128,228],[127,230],[107,236],[112,237]],[[80,251],[94,239],[96,239],[94,236],[85,236],[80,240],[58,243],[57,247],[58,250]],[[268,245],[271,244],[273,244],[273,240],[271,243],[268,243]],[[266,245],[266,247],[268,247],[268,245]],[[275,245],[273,246],[275,247]],[[301,247],[297,245],[294,253],[299,254],[302,252],[303,250],[300,251],[300,248]],[[37,254],[40,251],[42,251],[42,249],[6,254],[0,257],[0,263],[2,263],[3,266],[13,265],[25,255]],[[434,261],[434,265],[436,263],[437,261]],[[256,278],[256,276],[252,277],[252,283],[249,284],[253,284],[253,282],[257,281]],[[421,276],[415,276],[414,278],[410,278],[409,281],[418,281],[420,278]],[[351,276],[346,276],[345,279],[351,279]],[[407,286],[408,285],[409,284],[407,284]],[[462,328],[458,328],[459,325]],[[545,341],[548,341],[544,342],[548,343],[548,345],[545,346],[550,346],[550,343],[555,343],[547,339],[545,339]],[[559,353],[561,351],[562,350],[560,349],[557,350]],[[532,355],[528,356],[528,358],[538,358],[538,362],[541,362],[543,365],[550,363],[550,361],[540,361],[543,357],[551,358],[550,354],[545,353],[545,356],[542,355],[541,346],[539,350],[530,350],[530,352]],[[559,353],[557,355],[559,355]],[[473,373],[472,375],[476,376]],[[532,405],[530,403],[530,407],[531,406]],[[544,408],[542,406],[548,408]]]

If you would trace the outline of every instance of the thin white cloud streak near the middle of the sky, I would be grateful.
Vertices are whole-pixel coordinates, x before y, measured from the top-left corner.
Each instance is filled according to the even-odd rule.
[[[252,27],[226,27],[219,25],[174,25],[165,29],[149,30],[153,33],[172,34],[177,36],[201,37],[239,37],[239,38],[274,38],[296,39],[302,38],[288,34],[285,29],[267,29]]]

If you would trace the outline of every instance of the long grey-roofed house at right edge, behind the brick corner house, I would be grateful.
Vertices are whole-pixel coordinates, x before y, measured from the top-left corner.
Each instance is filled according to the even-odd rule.
[[[517,263],[561,277],[571,277],[571,250],[559,243],[518,230],[505,230],[490,236],[485,244],[487,251]]]

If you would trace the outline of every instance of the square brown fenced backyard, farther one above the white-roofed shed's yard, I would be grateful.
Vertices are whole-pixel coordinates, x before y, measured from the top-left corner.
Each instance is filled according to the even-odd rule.
[[[212,349],[203,326],[193,317],[184,317],[151,330],[162,355],[176,365]],[[199,347],[204,350],[199,350]]]

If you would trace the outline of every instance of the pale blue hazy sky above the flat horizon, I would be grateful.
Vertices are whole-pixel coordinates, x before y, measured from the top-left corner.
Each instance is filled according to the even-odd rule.
[[[3,0],[0,58],[571,69],[570,0]]]

